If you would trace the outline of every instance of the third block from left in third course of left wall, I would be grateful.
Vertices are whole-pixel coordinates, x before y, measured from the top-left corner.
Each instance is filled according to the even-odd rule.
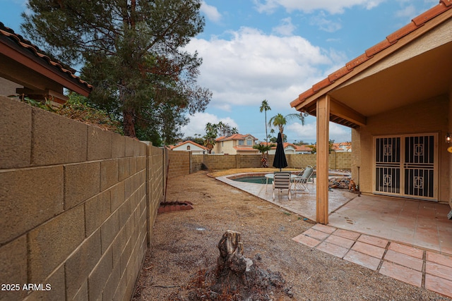
[[[110,216],[110,191],[106,190],[85,202],[85,231],[88,237]]]

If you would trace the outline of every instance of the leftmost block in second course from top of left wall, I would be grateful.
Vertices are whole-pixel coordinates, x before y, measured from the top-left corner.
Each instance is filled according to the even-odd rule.
[[[62,166],[2,171],[0,183],[0,245],[63,211]]]

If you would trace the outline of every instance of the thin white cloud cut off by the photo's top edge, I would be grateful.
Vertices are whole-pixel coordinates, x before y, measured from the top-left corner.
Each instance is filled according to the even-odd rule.
[[[328,11],[328,13],[343,13],[346,8],[352,6],[364,6],[366,9],[374,8],[385,0],[254,0],[259,13],[273,13],[276,8],[283,6],[286,11],[303,11],[311,13],[316,10]]]

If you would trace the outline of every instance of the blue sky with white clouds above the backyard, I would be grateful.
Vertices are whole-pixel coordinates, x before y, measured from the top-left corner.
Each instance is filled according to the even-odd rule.
[[[265,140],[263,99],[270,104],[268,119],[297,113],[290,102],[298,94],[436,4],[439,0],[204,0],[204,32],[186,48],[203,58],[198,84],[213,98],[182,132],[204,135],[206,123],[222,121]],[[22,34],[25,1],[0,5],[0,21]],[[315,142],[316,120],[291,122],[285,134],[290,142]],[[350,129],[331,123],[330,139],[350,141]]]

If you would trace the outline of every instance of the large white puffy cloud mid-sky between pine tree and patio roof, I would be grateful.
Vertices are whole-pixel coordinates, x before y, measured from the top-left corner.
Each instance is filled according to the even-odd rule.
[[[288,101],[323,80],[328,74],[321,67],[333,64],[331,56],[337,59],[303,37],[264,35],[249,27],[229,34],[230,39],[192,39],[186,47],[203,58],[198,84],[213,92],[210,107],[230,110],[268,99],[272,109],[290,109]]]

